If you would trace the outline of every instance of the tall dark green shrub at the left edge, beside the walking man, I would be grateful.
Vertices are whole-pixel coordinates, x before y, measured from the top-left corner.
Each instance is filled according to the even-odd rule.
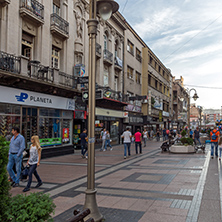
[[[10,185],[6,166],[8,163],[9,142],[0,136],[0,221],[5,221],[10,202]]]

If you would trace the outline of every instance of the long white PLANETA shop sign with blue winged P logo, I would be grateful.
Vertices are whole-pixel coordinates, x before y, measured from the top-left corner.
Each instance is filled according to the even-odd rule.
[[[48,107],[56,109],[75,109],[75,100],[48,94],[31,92],[23,89],[0,86],[0,101],[2,103],[20,104],[26,106]]]

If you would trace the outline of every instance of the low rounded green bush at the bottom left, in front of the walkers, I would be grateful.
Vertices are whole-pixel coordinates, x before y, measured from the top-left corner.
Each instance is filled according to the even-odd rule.
[[[8,211],[8,221],[12,222],[44,222],[53,221],[55,204],[48,194],[18,194],[12,197]]]

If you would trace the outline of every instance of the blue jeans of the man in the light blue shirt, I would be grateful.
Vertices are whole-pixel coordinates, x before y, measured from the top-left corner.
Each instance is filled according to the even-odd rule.
[[[16,176],[14,170],[12,169],[14,164],[17,172]],[[17,154],[9,154],[7,170],[10,177],[15,183],[19,183],[21,167],[22,167],[22,154],[20,156],[17,156]]]

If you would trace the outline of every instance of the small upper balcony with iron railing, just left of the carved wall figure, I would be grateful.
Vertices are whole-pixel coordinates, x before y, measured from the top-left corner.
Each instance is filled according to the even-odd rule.
[[[51,33],[62,39],[69,38],[69,23],[56,13],[51,14]]]

